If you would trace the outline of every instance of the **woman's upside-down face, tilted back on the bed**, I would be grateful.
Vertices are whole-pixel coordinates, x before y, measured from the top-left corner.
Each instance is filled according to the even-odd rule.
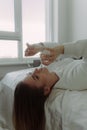
[[[47,68],[35,69],[35,71],[28,75],[24,82],[29,84],[30,86],[36,86],[37,88],[43,87],[47,84],[47,81],[50,80],[51,73]]]

